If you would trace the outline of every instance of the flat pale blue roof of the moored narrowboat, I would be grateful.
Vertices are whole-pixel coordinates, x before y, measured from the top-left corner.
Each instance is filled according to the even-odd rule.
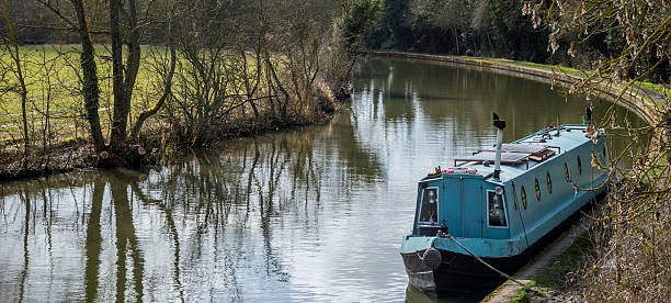
[[[503,144],[501,147],[503,152],[501,153],[501,182],[512,180],[539,164],[590,141],[585,136],[585,125],[562,125],[559,136],[555,136],[556,128],[544,128],[521,139]],[[542,142],[542,138],[545,142]],[[455,159],[455,166],[473,167],[477,170],[476,175],[489,178],[494,170],[496,152],[493,150],[496,146],[480,149],[473,156]]]

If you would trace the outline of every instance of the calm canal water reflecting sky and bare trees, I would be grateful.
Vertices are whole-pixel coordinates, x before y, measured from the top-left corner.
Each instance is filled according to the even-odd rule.
[[[423,301],[398,252],[416,182],[492,145],[492,112],[512,141],[557,114],[580,123],[585,105],[548,83],[397,59],[362,60],[353,90],[327,125],[161,168],[0,184],[0,301]]]

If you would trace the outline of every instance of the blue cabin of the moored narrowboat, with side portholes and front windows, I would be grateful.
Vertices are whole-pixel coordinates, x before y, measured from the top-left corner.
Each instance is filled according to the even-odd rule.
[[[412,235],[504,240],[481,251],[489,257],[523,251],[605,181],[604,139],[590,137],[587,128],[564,125],[508,144],[499,141],[455,159],[452,168],[437,168],[419,182]]]

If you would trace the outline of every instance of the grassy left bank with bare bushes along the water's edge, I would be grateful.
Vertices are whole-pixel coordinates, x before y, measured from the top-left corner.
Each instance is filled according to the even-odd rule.
[[[168,49],[143,46],[141,68],[132,89],[126,88],[126,121],[113,126],[124,114],[117,113],[112,77],[102,77],[112,72],[107,46],[94,47],[99,92],[90,112],[84,111],[80,67],[71,64],[79,59],[79,46],[18,47],[16,56],[25,60],[25,88],[15,93],[11,87],[19,80],[2,85],[7,89],[0,96],[0,181],[163,164],[184,149],[327,123],[338,108],[336,99],[346,97],[334,94],[342,86],[331,79],[333,70],[305,69],[281,52],[265,54],[264,59],[250,52],[215,52],[217,56],[209,57],[182,49],[170,74]],[[7,54],[0,59],[7,60]],[[114,127],[126,132],[113,139]],[[100,137],[98,150],[92,148],[93,137]]]

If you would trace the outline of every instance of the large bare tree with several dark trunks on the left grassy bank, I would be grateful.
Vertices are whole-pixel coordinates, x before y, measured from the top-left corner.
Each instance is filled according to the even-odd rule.
[[[91,139],[96,153],[106,150],[107,148],[115,153],[123,153],[126,148],[128,116],[130,115],[130,104],[133,101],[133,92],[137,76],[141,65],[141,31],[148,24],[155,22],[150,20],[149,11],[152,1],[146,2],[137,0],[121,1],[111,0],[109,2],[109,31],[96,32],[99,34],[109,35],[112,42],[112,90],[113,90],[113,116],[110,134],[110,145],[105,146],[105,139],[102,134],[100,116],[98,110],[100,106],[100,76],[95,65],[95,49],[91,37],[91,29],[89,27],[88,12],[89,9],[84,0],[69,0],[71,8],[66,8],[59,2],[38,0],[41,4],[56,15],[69,31],[76,31],[79,34],[81,44],[81,71],[82,71],[82,94],[84,98],[84,106],[87,119],[91,126]],[[138,3],[144,4],[145,20],[140,22],[138,18]],[[69,16],[70,10],[75,14],[72,21]],[[93,11],[98,5],[93,7]],[[158,16],[160,18],[160,16]],[[171,19],[172,16],[169,16]],[[170,22],[171,23],[171,22]],[[172,25],[170,25],[172,26]],[[124,45],[126,46],[126,56],[124,58]],[[175,56],[173,61],[175,60]],[[174,66],[174,64],[172,64]],[[168,98],[171,80],[166,82],[166,89],[157,102],[153,110],[148,110],[140,114],[139,123],[133,126],[132,137],[137,136],[147,117],[153,115]]]

